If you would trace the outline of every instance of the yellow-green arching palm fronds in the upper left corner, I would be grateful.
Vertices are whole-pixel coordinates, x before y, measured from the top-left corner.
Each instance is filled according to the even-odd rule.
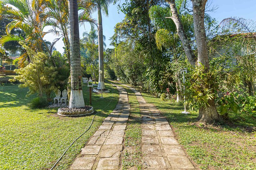
[[[3,0],[2,2],[5,5],[12,5],[15,8],[7,8],[5,11],[0,11],[6,18],[13,20],[6,26],[7,35],[1,38],[1,47],[9,41],[24,41],[33,51],[43,51],[43,49],[46,49],[51,56],[51,52],[43,40],[45,1]],[[14,28],[22,29],[26,34],[25,39],[20,36],[11,35],[11,30]],[[27,57],[27,52],[23,52],[20,57],[20,66],[24,66],[24,61]],[[55,66],[52,58],[51,61]]]

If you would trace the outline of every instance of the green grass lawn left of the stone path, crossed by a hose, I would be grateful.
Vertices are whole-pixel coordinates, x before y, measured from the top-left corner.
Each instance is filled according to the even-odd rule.
[[[92,93],[92,106],[99,111],[112,97],[112,85],[106,83],[110,93]],[[119,92],[113,89],[111,104],[100,114],[91,127],[68,150],[55,169],[68,169],[87,140],[115,108]],[[26,97],[28,89],[16,84],[0,85],[0,170],[50,169],[70,143],[90,125],[93,115],[82,117],[58,116],[58,108],[31,109],[28,104],[36,96]],[[85,104],[89,104],[89,88],[83,86]],[[95,112],[96,113],[96,112]]]

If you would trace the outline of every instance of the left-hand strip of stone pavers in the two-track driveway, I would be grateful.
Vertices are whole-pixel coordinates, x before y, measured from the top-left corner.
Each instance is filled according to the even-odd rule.
[[[124,88],[119,90],[119,101],[116,108],[103,121],[102,125],[82,149],[70,170],[118,170],[124,130],[130,115],[131,106]]]

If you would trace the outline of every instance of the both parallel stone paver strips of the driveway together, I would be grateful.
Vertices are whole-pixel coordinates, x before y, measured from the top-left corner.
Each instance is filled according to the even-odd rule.
[[[147,170],[192,170],[196,169],[174,137],[168,121],[153,105],[147,104],[141,93],[134,91],[142,115],[142,159]],[[124,88],[116,86],[120,92],[119,102],[111,114],[82,149],[70,170],[119,170],[120,155],[127,120],[131,106]]]

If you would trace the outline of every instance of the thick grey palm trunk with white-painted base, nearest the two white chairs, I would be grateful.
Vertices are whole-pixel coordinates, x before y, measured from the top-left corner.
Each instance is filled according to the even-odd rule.
[[[80,39],[77,0],[69,0],[70,24],[70,77],[69,108],[84,107],[81,75]]]

